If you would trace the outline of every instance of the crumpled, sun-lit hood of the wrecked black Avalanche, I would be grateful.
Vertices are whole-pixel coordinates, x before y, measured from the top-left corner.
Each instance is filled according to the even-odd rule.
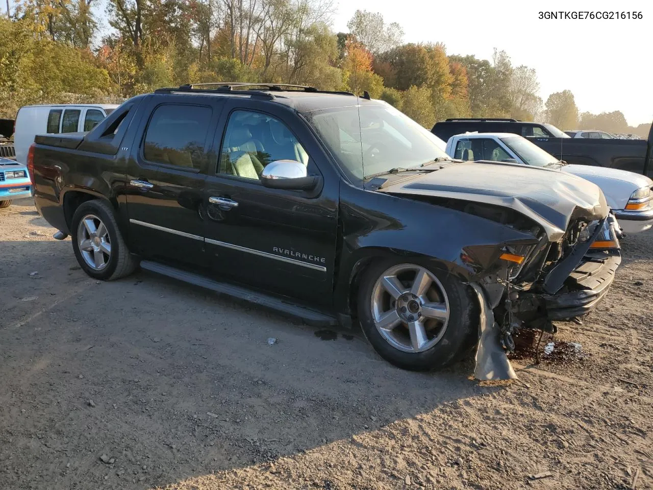
[[[560,240],[569,221],[599,220],[608,214],[596,184],[575,175],[514,163],[465,161],[438,171],[400,178],[379,189],[395,195],[430,195],[510,208]]]

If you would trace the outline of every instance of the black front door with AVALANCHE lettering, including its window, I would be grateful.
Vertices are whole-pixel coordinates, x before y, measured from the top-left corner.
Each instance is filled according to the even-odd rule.
[[[226,103],[204,190],[205,246],[219,276],[323,306],[332,304],[339,180],[294,112],[255,99]],[[270,189],[264,166],[279,159],[321,174],[314,191]]]

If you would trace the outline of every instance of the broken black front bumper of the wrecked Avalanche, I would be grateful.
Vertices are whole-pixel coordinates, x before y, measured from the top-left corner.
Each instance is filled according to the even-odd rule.
[[[550,320],[575,318],[589,313],[610,289],[621,255],[592,254],[571,272],[560,293],[543,295]]]

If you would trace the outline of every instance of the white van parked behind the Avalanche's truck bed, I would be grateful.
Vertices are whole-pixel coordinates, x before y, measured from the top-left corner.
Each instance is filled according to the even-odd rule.
[[[26,105],[18,109],[14,126],[16,161],[27,164],[27,150],[36,135],[90,131],[117,104]]]

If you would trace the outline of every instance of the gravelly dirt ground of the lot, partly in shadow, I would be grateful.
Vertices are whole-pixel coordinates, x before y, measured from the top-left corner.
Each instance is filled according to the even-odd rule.
[[[481,386],[153,274],[96,282],[53,232],[0,210],[2,489],[653,487],[653,233],[560,323],[583,355]]]

